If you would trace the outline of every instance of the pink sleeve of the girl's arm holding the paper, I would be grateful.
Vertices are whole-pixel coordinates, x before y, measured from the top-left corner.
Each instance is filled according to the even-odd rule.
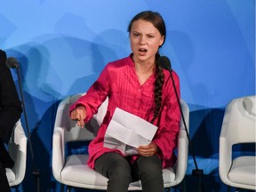
[[[174,84],[180,101],[180,80],[179,76],[172,71]],[[159,148],[159,156],[162,159],[170,160],[173,151],[177,148],[177,139],[180,132],[180,107],[172,84],[171,77],[165,84],[163,108],[161,110],[158,130],[153,142]]]

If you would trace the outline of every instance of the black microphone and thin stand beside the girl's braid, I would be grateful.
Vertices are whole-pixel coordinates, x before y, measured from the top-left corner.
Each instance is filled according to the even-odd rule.
[[[179,99],[179,96],[178,96],[178,92],[177,92],[177,88],[175,86],[175,83],[174,83],[174,79],[173,79],[173,76],[172,76],[172,65],[171,65],[171,61],[169,60],[168,57],[166,56],[160,56],[160,58],[158,59],[158,63],[159,65],[168,70],[170,72],[170,76],[172,78],[172,85],[173,85],[173,88],[174,88],[174,92],[175,92],[175,95],[176,95],[176,99],[177,99],[177,102],[179,104],[179,108],[180,108],[180,114],[181,114],[181,118],[182,118],[182,122],[185,126],[185,131],[187,133],[187,138],[188,138],[188,145],[190,146],[190,149],[191,149],[191,154],[192,154],[192,157],[193,157],[193,160],[194,160],[194,164],[196,166],[196,170],[193,170],[192,171],[192,174],[193,175],[197,175],[199,176],[199,191],[202,191],[201,189],[201,175],[204,174],[204,170],[201,170],[201,169],[198,169],[198,166],[196,164],[196,157],[195,157],[195,154],[194,154],[194,148],[192,146],[192,143],[191,143],[191,140],[190,140],[190,137],[189,137],[189,134],[188,134],[188,127],[187,127],[187,124],[185,122],[185,117],[183,115],[183,112],[182,112],[182,109],[181,109],[181,105],[180,105],[180,99]]]

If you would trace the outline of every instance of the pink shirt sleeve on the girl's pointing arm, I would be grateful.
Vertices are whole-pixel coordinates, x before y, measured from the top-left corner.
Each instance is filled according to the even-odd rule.
[[[81,96],[76,103],[69,108],[70,112],[76,108],[77,105],[83,105],[86,108],[86,117],[84,122],[87,123],[94,114],[98,112],[98,108],[104,100],[107,99],[109,86],[108,65],[100,73],[99,78],[92,84],[89,90]]]

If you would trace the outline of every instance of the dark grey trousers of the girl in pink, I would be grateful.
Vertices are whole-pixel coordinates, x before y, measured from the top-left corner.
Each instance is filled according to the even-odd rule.
[[[127,192],[129,184],[141,180],[143,192],[164,192],[162,163],[157,156],[129,157],[110,152],[98,157],[95,170],[108,178],[108,192]]]

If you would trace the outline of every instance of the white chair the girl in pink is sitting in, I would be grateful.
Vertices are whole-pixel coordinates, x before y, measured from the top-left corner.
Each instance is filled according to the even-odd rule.
[[[102,103],[98,114],[94,115],[90,123],[85,125],[86,129],[78,127],[76,122],[69,118],[69,106],[81,95],[76,94],[62,100],[58,107],[52,138],[52,173],[54,178],[61,183],[61,190],[63,190],[63,185],[106,190],[108,179],[88,167],[86,164],[88,155],[67,156],[65,154],[67,142],[92,140],[94,138],[107,111],[108,100]],[[181,108],[186,124],[188,124],[189,110],[184,100],[181,100]],[[178,161],[175,169],[170,167],[163,170],[164,188],[180,184],[187,171],[188,138],[183,123],[180,124],[177,154]],[[140,181],[132,182],[129,190],[141,190]]]

